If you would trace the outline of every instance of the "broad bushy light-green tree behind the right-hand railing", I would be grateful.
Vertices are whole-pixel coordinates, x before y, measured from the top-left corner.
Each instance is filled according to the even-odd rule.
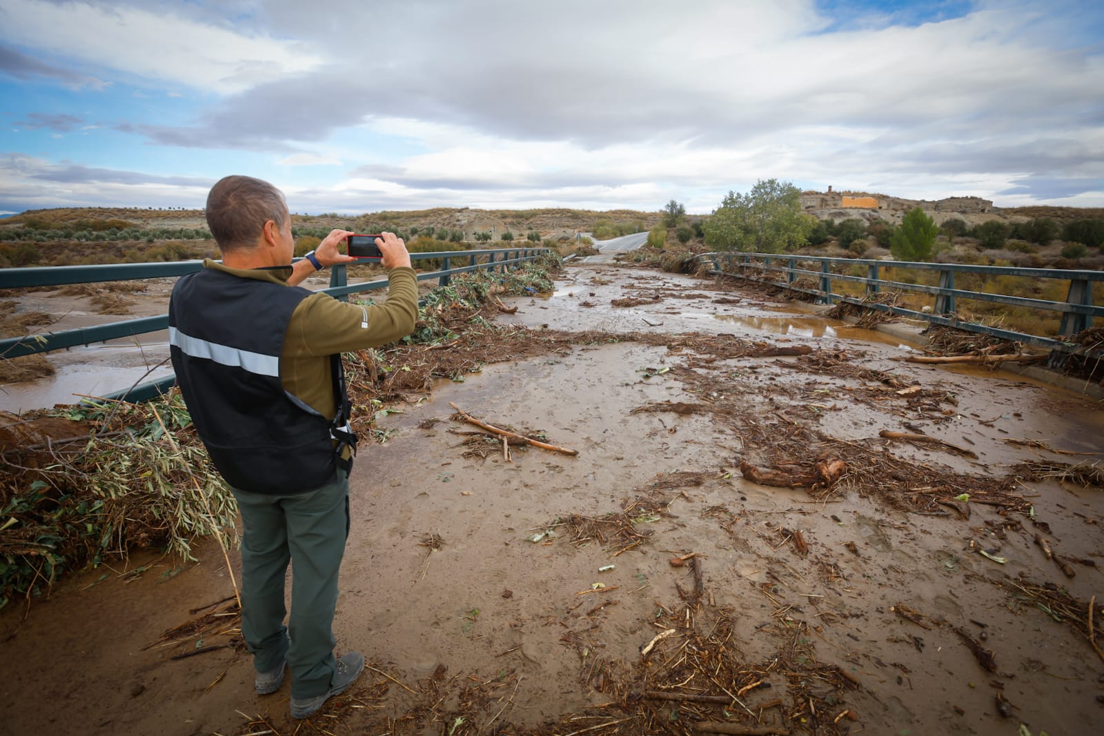
[[[779,253],[804,245],[815,224],[802,211],[799,189],[767,179],[747,194],[729,192],[702,230],[705,244],[718,250]]]

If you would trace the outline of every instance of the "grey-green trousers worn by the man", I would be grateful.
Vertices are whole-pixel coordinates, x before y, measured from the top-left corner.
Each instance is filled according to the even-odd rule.
[[[349,535],[349,476],[295,495],[231,489],[242,513],[242,637],[257,672],[286,660],[291,696],[330,689],[338,569]],[[284,626],[284,579],[291,563],[291,616]]]

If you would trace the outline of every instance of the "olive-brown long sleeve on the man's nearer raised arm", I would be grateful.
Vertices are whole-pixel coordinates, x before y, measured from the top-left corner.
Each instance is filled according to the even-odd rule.
[[[383,345],[413,332],[417,321],[414,269],[392,268],[388,279],[388,299],[382,305],[361,307],[325,294],[304,299],[288,322],[284,355],[332,355]]]

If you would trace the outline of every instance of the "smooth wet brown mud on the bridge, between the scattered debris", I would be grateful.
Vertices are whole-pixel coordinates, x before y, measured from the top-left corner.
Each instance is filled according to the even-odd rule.
[[[499,321],[623,331],[735,329],[764,342],[815,348],[847,340],[839,332],[850,331],[830,324],[835,335],[827,329],[802,334],[816,330],[777,313],[764,318],[775,320],[762,323],[769,329],[714,319],[721,305],[710,299],[611,308],[609,299],[641,284],[719,295],[709,281],[652,271],[584,265],[569,275],[573,281],[559,289],[563,296],[509,299],[520,309]],[[581,307],[582,300],[593,306]],[[751,317],[745,312],[764,307],[724,309]],[[682,311],[708,318],[687,318]],[[667,323],[652,326],[645,317]],[[786,324],[794,330],[782,331]],[[786,412],[806,416],[796,412],[817,405],[822,407],[816,417],[819,431],[964,474],[1001,474],[1029,459],[1071,461],[1071,456],[1005,441],[1010,438],[1071,451],[1092,451],[1097,442],[1095,452],[1104,452],[1102,413],[1083,397],[1018,376],[895,362],[891,359],[902,351],[892,341],[848,344],[861,344],[858,365],[892,371],[934,393],[954,393],[954,416],[917,416],[892,398],[849,401],[850,391],[869,386],[804,373],[793,367],[794,359],[718,361],[712,375],[743,392],[751,419],[778,422],[782,428],[788,424],[779,418]],[[365,442],[351,478],[352,527],[335,622],[339,652],[363,651],[374,671],[311,725],[331,733],[447,734],[457,717],[450,708],[464,700],[460,689],[503,678],[510,686],[495,691],[479,718],[465,726],[469,732],[457,733],[480,727],[491,733],[492,716],[496,725],[531,730],[603,706],[615,698],[593,687],[584,673],[595,658],[646,666],[639,652],[656,636],[660,607],[681,605],[680,589],[693,586],[690,570],[668,559],[694,551],[703,561],[708,610],[731,612],[730,646],[749,668],[765,672],[777,657],[779,644],[768,636],[769,627],[800,621],[809,627],[816,661],[839,666],[860,683],[832,691],[841,700],[827,714],[830,721],[845,706],[853,708],[859,721],[848,726],[850,733],[1013,733],[1020,723],[1032,734],[1098,729],[1101,663],[1085,636],[999,586],[1052,582],[1083,601],[1097,595],[1104,566],[1100,489],[1023,483],[1037,520],[1049,524],[1055,552],[1097,564],[1078,565],[1076,576],[1065,578],[1034,543],[1039,529],[1025,514],[970,504],[968,520],[925,516],[890,509],[856,488],[813,501],[800,489],[757,486],[736,470],[750,451],[739,424],[709,413],[634,412],[660,402],[708,401],[679,378],[687,363],[686,354],[639,343],[575,346],[488,365],[464,382],[439,382],[428,398],[412,396],[397,406],[403,413],[381,417],[379,427],[390,439]],[[660,367],[671,370],[659,373]],[[492,424],[543,433],[578,455],[532,448],[513,450],[507,461],[496,448],[486,458],[465,456],[466,437],[450,430],[469,427],[449,419],[449,403]],[[912,423],[947,441],[968,444],[977,457],[888,445],[878,437],[880,429],[905,429]],[[618,513],[626,500],[648,492],[658,473],[680,471],[701,472],[704,480],[675,494],[667,514],[641,522],[651,536],[624,554],[614,556],[619,545],[608,542],[573,540],[562,527],[555,537],[531,541],[571,514],[605,519]],[[713,515],[721,508],[739,522],[731,531]],[[781,529],[802,531],[808,554],[785,543]],[[437,550],[424,544],[434,534],[442,540]],[[972,552],[972,540],[1006,563]],[[7,663],[0,679],[0,733],[266,730],[247,726],[257,714],[277,733],[295,733],[288,685],[257,696],[247,658],[219,650],[173,661],[156,646],[167,628],[191,618],[190,609],[232,595],[217,547],[201,544],[197,556],[199,564],[139,555],[130,567],[150,567],[137,579],[118,575],[121,567],[100,567],[55,586],[52,599],[30,606],[25,621],[22,601],[0,611],[0,658]],[[236,568],[236,554],[232,558]],[[606,606],[583,595],[595,584],[617,586],[605,594]],[[921,628],[894,612],[902,604],[946,623]],[[951,627],[975,637],[984,631],[998,672],[981,669]],[[572,643],[578,640],[587,642],[585,649]],[[664,657],[669,654],[673,660],[678,652]],[[656,666],[664,660],[650,661]],[[426,684],[436,673],[444,673],[439,692]],[[787,708],[804,707],[789,701],[783,674],[768,679],[773,687],[741,698],[747,707],[757,711],[775,697],[785,698]],[[810,686],[827,687],[821,682]],[[715,690],[698,680],[688,687]],[[997,714],[998,692],[1013,706],[1008,721]],[[422,714],[422,725],[412,725],[413,716],[403,721],[412,713]],[[666,713],[687,717],[675,708]],[[385,716],[394,721],[386,723]],[[576,730],[605,723],[580,718],[572,722]]]

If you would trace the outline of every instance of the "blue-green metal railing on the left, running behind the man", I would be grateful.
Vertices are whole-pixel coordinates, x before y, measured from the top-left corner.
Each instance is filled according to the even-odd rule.
[[[452,277],[476,270],[492,271],[501,268],[517,268],[528,260],[534,260],[551,253],[550,248],[487,248],[480,250],[444,250],[439,253],[412,253],[411,260],[440,259],[442,268],[435,271],[417,274],[417,280],[437,279],[440,286],[447,286]],[[296,258],[295,260],[301,260]],[[452,267],[453,262],[466,265]],[[95,284],[102,281],[126,281],[147,278],[166,278],[183,276],[202,270],[202,260],[181,260],[163,264],[105,264],[96,266],[42,266],[34,268],[0,269],[0,289],[28,288],[36,286],[64,286],[68,284]],[[388,279],[348,282],[346,265],[330,267],[330,286],[319,289],[323,294],[344,300],[350,294],[386,288]],[[169,316],[142,317],[140,319],[121,320],[95,327],[64,330],[62,332],[44,332],[41,334],[7,338],[0,340],[0,359],[33,355],[52,350],[87,345],[135,334],[146,334],[167,330]],[[174,376],[160,381],[144,383],[123,392],[116,392],[104,398],[123,398],[126,401],[146,401],[163,393],[176,382]]]

